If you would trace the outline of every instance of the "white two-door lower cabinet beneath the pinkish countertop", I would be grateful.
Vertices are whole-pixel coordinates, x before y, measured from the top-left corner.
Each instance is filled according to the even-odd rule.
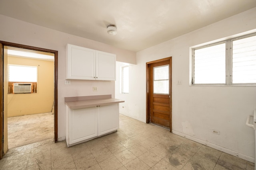
[[[66,106],[68,147],[94,139],[119,128],[119,104],[70,109]]]

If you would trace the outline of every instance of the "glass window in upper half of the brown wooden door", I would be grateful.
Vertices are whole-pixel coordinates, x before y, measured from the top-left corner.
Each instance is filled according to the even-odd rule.
[[[154,67],[153,93],[169,94],[169,65]]]

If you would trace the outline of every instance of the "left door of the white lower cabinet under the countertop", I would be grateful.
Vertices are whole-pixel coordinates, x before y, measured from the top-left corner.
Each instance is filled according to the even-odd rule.
[[[70,109],[69,144],[98,136],[98,114],[96,107]]]

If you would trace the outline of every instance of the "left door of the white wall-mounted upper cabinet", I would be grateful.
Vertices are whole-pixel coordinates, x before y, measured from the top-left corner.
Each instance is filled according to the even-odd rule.
[[[66,79],[95,80],[95,50],[68,44]]]

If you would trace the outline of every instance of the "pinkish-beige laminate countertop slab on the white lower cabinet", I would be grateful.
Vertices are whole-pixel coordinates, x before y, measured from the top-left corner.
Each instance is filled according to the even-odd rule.
[[[95,107],[95,106],[106,106],[106,105],[117,104],[122,102],[124,102],[124,100],[115,99],[115,98],[105,98],[105,99],[70,101],[70,102],[65,102],[65,104],[70,109],[83,109],[83,108]]]

